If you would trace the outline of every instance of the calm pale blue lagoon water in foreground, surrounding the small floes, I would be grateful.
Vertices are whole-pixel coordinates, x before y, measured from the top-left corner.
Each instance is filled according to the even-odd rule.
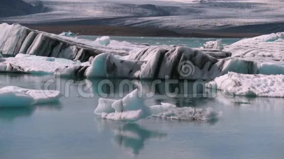
[[[195,81],[171,84],[170,91],[180,91],[169,97],[165,82],[152,90],[152,81],[131,81],[133,88],[142,86],[154,93],[145,99],[147,105],[212,107],[223,116],[213,121],[148,118],[127,123],[94,115],[101,96],[118,99],[130,91],[119,88],[119,79],[111,80],[113,92],[107,86],[98,87],[100,81],[0,74],[0,88],[47,87],[65,94],[59,102],[1,108],[0,159],[283,159],[283,98],[228,96],[195,87]]]

